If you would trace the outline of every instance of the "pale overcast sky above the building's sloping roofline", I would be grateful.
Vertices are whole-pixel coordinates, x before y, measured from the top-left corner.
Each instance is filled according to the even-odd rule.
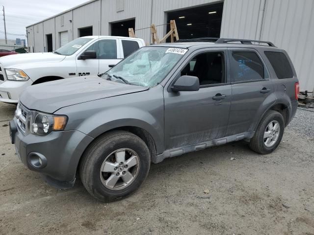
[[[26,26],[37,23],[88,0],[0,0],[0,39],[4,39],[2,5],[5,12],[6,32],[26,34]],[[7,39],[21,38],[23,35],[8,35]]]

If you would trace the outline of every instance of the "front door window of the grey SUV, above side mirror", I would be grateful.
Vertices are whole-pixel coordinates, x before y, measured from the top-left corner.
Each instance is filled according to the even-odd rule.
[[[225,62],[223,52],[207,52],[196,55],[181,71],[181,76],[196,76],[200,85],[224,83]]]

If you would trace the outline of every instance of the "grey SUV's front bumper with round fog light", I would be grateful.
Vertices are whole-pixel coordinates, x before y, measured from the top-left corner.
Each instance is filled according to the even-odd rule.
[[[55,188],[71,188],[84,150],[94,139],[79,131],[51,132],[47,136],[24,135],[16,118],[10,121],[10,136],[22,163],[42,173]]]

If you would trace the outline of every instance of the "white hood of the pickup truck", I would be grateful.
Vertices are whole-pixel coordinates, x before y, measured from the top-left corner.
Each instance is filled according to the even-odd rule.
[[[65,55],[58,55],[52,52],[45,53],[25,53],[7,55],[0,58],[0,64],[7,69],[20,69],[19,65],[33,63],[59,62],[65,58]]]

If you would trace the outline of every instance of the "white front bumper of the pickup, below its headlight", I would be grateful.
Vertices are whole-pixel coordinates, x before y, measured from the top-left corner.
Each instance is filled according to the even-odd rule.
[[[0,101],[18,103],[20,94],[32,83],[30,79],[27,81],[0,81]]]

